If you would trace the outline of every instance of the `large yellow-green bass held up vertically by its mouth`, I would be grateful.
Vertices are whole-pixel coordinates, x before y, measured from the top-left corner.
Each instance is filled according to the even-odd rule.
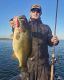
[[[14,21],[13,52],[19,67],[26,68],[27,60],[32,51],[32,38],[28,20],[25,16],[16,16]]]

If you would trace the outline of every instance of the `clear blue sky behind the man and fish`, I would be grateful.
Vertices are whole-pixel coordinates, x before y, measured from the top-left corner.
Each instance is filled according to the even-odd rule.
[[[42,7],[41,20],[50,26],[54,34],[57,0],[0,0],[0,37],[10,37],[12,33],[9,20],[14,16],[25,15],[30,18],[30,8],[33,4]],[[64,0],[59,0],[56,35],[64,39]]]

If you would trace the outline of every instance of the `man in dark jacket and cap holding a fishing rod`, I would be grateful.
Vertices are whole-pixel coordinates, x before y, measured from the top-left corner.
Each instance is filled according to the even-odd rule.
[[[50,80],[48,45],[58,44],[57,36],[52,35],[50,27],[41,21],[40,5],[32,5],[29,25],[32,31],[32,55],[28,59],[30,80]]]

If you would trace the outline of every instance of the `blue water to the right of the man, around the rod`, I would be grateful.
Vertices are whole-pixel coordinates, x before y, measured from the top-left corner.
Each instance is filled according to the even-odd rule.
[[[52,48],[49,47],[49,54],[51,60]],[[64,40],[59,42],[59,45],[55,46],[55,58],[57,62],[55,63],[55,76],[62,77],[64,80]]]

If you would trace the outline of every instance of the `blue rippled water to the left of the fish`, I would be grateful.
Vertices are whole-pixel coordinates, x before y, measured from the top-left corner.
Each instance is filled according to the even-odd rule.
[[[9,80],[19,73],[18,62],[12,58],[12,42],[0,40],[0,80]]]

